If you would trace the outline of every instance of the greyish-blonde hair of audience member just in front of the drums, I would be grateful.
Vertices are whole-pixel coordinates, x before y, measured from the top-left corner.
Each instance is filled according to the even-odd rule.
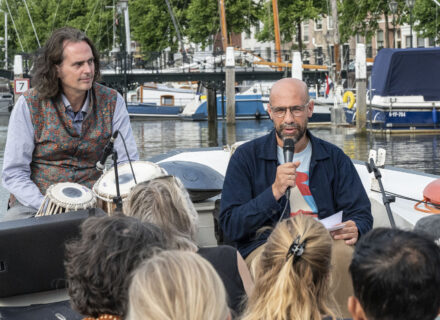
[[[128,206],[127,215],[154,223],[170,235],[173,249],[197,251],[198,214],[179,178],[163,176],[137,184]]]

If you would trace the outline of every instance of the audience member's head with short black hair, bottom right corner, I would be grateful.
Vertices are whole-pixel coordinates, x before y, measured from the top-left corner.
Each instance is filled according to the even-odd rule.
[[[440,248],[423,235],[377,228],[362,236],[350,265],[353,319],[435,319]]]

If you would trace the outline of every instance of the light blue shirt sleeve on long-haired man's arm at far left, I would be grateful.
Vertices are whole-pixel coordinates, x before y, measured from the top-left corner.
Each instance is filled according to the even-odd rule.
[[[31,180],[30,163],[34,147],[30,111],[25,98],[20,96],[9,118],[2,183],[23,205],[39,209],[44,197]]]

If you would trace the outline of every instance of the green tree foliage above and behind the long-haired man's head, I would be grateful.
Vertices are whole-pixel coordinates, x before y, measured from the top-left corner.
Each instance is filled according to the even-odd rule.
[[[109,5],[112,0],[5,0],[1,8],[8,14],[9,49],[35,52],[53,30],[71,26],[85,31],[98,50],[106,50],[112,41],[113,15],[105,8]],[[0,20],[1,32],[4,32],[4,21]]]

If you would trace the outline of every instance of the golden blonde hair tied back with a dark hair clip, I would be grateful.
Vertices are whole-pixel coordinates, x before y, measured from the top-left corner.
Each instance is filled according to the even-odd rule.
[[[288,254],[296,239],[304,244],[301,256]],[[280,222],[256,262],[255,288],[243,320],[335,317],[331,251],[329,232],[313,218],[298,215]]]

